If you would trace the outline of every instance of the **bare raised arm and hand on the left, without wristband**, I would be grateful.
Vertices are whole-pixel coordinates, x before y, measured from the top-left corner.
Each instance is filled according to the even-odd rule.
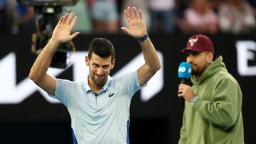
[[[53,35],[48,44],[38,55],[36,61],[31,67],[31,71],[29,72],[29,78],[51,95],[55,95],[56,81],[53,77],[48,75],[46,71],[50,67],[50,62],[54,53],[58,49],[58,46],[61,43],[72,40],[79,34],[79,32],[75,32],[70,35],[70,32],[75,26],[75,22],[77,20],[77,16],[73,18],[73,15],[73,13],[70,13],[70,16],[68,16],[68,13],[66,13],[60,18],[60,21],[58,22],[57,26],[55,26]]]

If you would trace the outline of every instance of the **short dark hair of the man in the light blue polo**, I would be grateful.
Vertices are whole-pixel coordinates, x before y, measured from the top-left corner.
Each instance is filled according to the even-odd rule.
[[[99,55],[100,57],[110,57],[111,60],[114,60],[114,46],[106,38],[94,38],[92,39],[89,50],[88,57],[92,57],[92,53]]]

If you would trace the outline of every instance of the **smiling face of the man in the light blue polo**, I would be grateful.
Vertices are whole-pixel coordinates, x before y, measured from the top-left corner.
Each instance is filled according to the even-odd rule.
[[[107,76],[110,74],[110,70],[114,67],[115,60],[111,60],[110,57],[100,57],[95,53],[92,53],[92,57],[85,57],[85,63],[89,66],[89,82],[102,87]]]

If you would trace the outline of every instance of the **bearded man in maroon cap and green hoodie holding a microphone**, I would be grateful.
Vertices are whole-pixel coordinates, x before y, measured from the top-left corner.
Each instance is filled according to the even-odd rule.
[[[213,61],[213,43],[206,35],[188,39],[186,61],[193,86],[180,84],[185,101],[179,144],[242,144],[242,92],[228,73],[223,57]]]

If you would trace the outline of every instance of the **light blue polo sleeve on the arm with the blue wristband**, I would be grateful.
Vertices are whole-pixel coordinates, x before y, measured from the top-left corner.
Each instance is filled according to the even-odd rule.
[[[142,87],[139,87],[139,79],[137,76],[137,70],[128,74],[124,74],[119,79],[119,86],[122,87],[124,92],[132,99],[132,96],[139,91],[139,89],[142,89]],[[143,86],[145,87],[146,84]]]

